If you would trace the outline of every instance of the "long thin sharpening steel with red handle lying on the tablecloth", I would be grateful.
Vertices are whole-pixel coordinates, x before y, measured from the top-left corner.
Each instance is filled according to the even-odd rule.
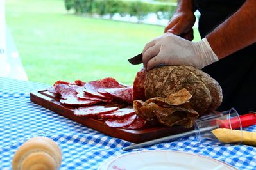
[[[249,112],[248,114],[244,114],[242,116],[239,116],[242,127],[249,127],[251,125],[256,125],[256,114],[255,112]],[[217,120],[218,121],[218,120]],[[228,120],[219,120],[219,128],[229,128],[229,124],[232,124],[232,127],[238,128],[238,124],[239,122],[237,121],[236,118],[232,118],[230,121]],[[216,127],[212,126],[212,127],[205,127],[205,128],[201,128],[200,129],[200,133],[202,132],[209,132],[209,130],[214,130]],[[153,144],[158,144],[158,143],[163,143],[166,141],[171,141],[172,139],[177,139],[180,137],[187,137],[189,135],[194,135],[196,134],[197,131],[196,130],[191,130],[185,133],[181,133],[181,134],[176,134],[176,135],[170,135],[167,137],[162,137],[159,139],[153,139],[151,141],[146,141],[144,143],[138,143],[138,144],[131,144],[130,146],[124,147],[123,150],[132,150],[135,148],[142,148],[144,146],[151,146]]]

